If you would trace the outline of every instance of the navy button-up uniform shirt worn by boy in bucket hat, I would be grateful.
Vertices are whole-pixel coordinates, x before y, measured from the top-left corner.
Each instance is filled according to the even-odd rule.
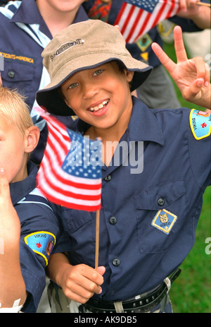
[[[211,128],[210,117],[194,112],[192,131],[190,109],[150,110],[136,97],[133,102],[120,140],[124,155],[116,166],[102,167],[98,265],[106,273],[103,292],[94,297],[107,301],[152,290],[184,261],[211,182],[210,136],[193,136],[196,128]],[[77,130],[86,128],[77,121]],[[69,251],[73,265],[94,267],[96,213],[62,210],[65,236],[55,251]]]

